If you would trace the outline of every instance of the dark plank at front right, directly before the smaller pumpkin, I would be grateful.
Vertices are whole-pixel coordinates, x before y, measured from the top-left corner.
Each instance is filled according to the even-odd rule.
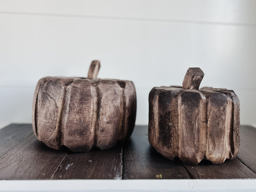
[[[237,158],[218,165],[201,161],[198,165],[184,164],[184,166],[192,179],[256,178],[256,173]]]

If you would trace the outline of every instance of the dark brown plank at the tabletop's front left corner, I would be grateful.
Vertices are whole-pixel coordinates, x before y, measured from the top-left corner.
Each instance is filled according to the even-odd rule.
[[[0,158],[0,179],[51,179],[66,155],[31,134]]]

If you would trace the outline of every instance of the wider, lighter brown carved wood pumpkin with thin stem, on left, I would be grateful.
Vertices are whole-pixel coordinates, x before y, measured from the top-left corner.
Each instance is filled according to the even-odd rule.
[[[33,98],[33,130],[50,148],[65,145],[71,151],[113,147],[128,138],[136,117],[132,81],[96,79],[99,61],[88,77],[44,77]]]

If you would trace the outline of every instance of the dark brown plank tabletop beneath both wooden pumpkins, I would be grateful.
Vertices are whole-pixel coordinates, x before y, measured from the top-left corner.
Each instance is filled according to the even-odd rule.
[[[0,179],[233,179],[256,178],[256,129],[241,126],[238,156],[221,165],[168,160],[148,143],[148,127],[136,126],[126,143],[73,153],[39,142],[31,124],[0,129]]]

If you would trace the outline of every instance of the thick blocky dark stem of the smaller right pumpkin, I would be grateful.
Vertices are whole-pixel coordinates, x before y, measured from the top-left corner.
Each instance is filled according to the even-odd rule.
[[[204,72],[199,67],[189,68],[182,83],[183,89],[198,90],[203,77]]]

